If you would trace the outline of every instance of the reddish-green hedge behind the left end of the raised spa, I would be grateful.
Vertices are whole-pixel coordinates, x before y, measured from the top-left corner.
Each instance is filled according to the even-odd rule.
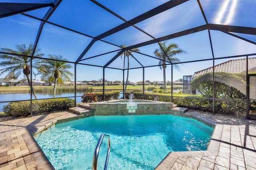
[[[105,101],[118,99],[120,91],[105,91]],[[83,103],[93,103],[103,101],[103,92],[84,93],[82,98]]]

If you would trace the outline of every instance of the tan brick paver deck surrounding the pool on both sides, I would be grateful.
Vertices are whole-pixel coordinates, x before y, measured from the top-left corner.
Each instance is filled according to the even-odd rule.
[[[209,113],[186,112],[184,115],[215,125],[208,149],[170,152],[156,170],[256,170],[256,121]],[[80,117],[72,112],[59,112],[0,122],[0,170],[54,169],[33,135],[57,121]]]

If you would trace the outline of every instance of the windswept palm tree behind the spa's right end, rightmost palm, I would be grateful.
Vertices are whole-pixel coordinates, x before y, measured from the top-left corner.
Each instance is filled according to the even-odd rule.
[[[159,67],[160,69],[163,68],[164,73],[164,90],[166,90],[166,75],[165,75],[165,69],[166,69],[166,61],[171,61],[172,63],[180,62],[180,60],[174,56],[186,53],[183,49],[180,49],[180,47],[176,43],[170,43],[169,45],[166,45],[166,42],[159,43],[159,49],[156,49],[154,51],[154,55],[158,57],[159,59],[162,59],[159,61]],[[178,65],[174,65],[174,68],[177,70],[180,69]]]

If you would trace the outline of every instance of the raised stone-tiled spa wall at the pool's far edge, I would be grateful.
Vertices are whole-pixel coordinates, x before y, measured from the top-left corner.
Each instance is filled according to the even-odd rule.
[[[128,113],[127,103],[122,103],[128,100],[113,100],[90,103],[90,109],[93,109],[94,115],[164,115],[170,113],[173,108],[173,103],[147,100],[138,101],[138,109],[135,113]],[[118,103],[120,102],[120,103]]]

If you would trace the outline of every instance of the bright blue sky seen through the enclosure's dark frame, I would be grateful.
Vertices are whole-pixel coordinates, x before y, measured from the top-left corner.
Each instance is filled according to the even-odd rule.
[[[5,1],[0,0],[0,2]],[[24,2],[28,1],[24,0]],[[163,4],[166,0],[129,0],[122,2],[119,0],[98,0],[98,2],[102,3],[116,14],[122,16],[124,19],[130,20],[152,8],[155,8],[156,6]],[[214,1],[214,3],[210,3],[209,0],[201,0],[200,2],[202,3],[206,18],[211,24],[256,27],[256,2],[254,0],[225,0]],[[48,8],[42,8],[27,12],[27,14],[42,18],[47,10]],[[128,10],[132,12],[128,12]],[[62,1],[48,21],[93,37],[124,23],[124,21],[116,18],[109,12],[106,12],[96,4],[84,0]],[[155,38],[159,38],[204,24],[204,18],[200,12],[197,1],[190,0],[180,6],[167,10],[162,14],[158,14],[148,18],[147,20],[139,22],[136,26],[145,30]],[[16,44],[28,45],[29,43],[34,43],[39,25],[40,21],[21,14],[0,19],[0,48],[7,47],[15,49]],[[219,31],[210,30],[210,34],[215,58],[256,53],[256,45],[252,43],[240,40]],[[254,35],[237,33],[236,35],[256,42],[256,36]],[[45,54],[46,58],[48,57],[48,54],[56,54],[62,55],[69,61],[76,61],[78,56],[91,42],[91,40],[92,38],[90,37],[70,32],[63,28],[46,23],[42,30],[38,47],[41,48],[41,51]],[[152,40],[152,38],[134,27],[128,27],[116,34],[103,38],[102,40],[116,45],[134,45]],[[174,38],[167,42],[177,43],[180,48],[187,52],[186,54],[177,56],[180,61],[212,58],[207,30]],[[153,52],[156,48],[159,48],[157,43],[140,47],[139,49],[141,53],[154,56]],[[120,48],[115,45],[97,41],[86,55],[84,55],[83,59],[118,49]],[[107,61],[109,61],[109,59],[116,55],[116,53],[117,51],[100,57],[86,59],[81,61],[81,63],[103,66]],[[145,57],[138,53],[133,54],[134,57],[144,66],[158,64],[156,59]],[[111,63],[109,67],[122,69],[124,66],[123,60],[124,58],[121,59],[118,57],[118,59]],[[226,59],[225,61],[227,60],[229,59]],[[216,64],[222,62],[224,62],[224,60],[215,61]],[[183,75],[192,75],[196,71],[211,67],[212,61],[186,63],[179,66],[180,71],[174,69],[174,81],[182,78]],[[127,68],[126,62],[125,67]],[[130,58],[130,68],[135,67],[140,67],[140,64],[135,59]],[[171,80],[170,70],[171,67],[168,66],[166,69],[166,79],[169,81]],[[109,81],[122,81],[122,74],[122,70],[106,69],[105,79]],[[0,75],[0,77],[4,77],[4,75]],[[77,65],[77,81],[98,80],[102,77],[101,67]],[[142,81],[142,78],[142,69],[131,69],[129,71],[130,81]],[[40,79],[40,76],[37,76],[36,79]],[[163,81],[162,70],[160,70],[159,67],[145,68],[145,80]]]

